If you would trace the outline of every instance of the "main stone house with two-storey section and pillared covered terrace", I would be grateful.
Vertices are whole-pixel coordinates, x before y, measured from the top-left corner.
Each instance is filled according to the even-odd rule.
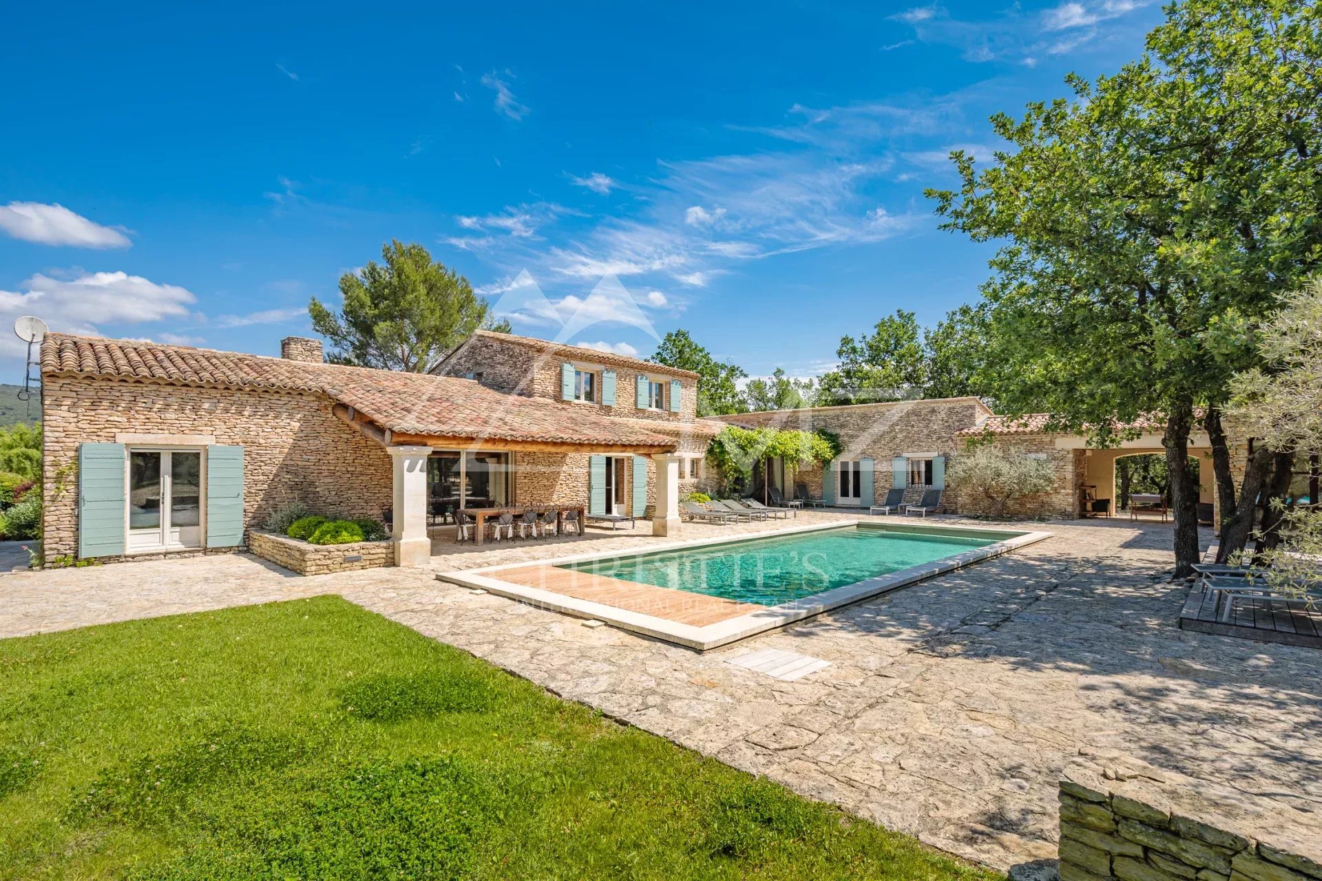
[[[295,499],[390,510],[410,565],[447,507],[584,503],[677,527],[714,433],[693,419],[694,374],[486,332],[444,372],[328,365],[296,337],[270,358],[48,334],[45,555],[233,549]]]

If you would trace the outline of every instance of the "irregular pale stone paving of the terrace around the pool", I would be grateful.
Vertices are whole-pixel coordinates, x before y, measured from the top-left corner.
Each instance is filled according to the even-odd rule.
[[[715,528],[690,526],[685,538]],[[1322,652],[1181,631],[1186,588],[1163,580],[1169,526],[1038,528],[1055,538],[702,655],[427,571],[299,579],[246,556],[7,575],[0,635],[341,593],[568,699],[1002,869],[1055,855],[1056,781],[1080,754],[1133,756],[1322,816]],[[600,535],[463,548],[432,568],[658,542]],[[787,683],[726,663],[763,647],[832,666]]]

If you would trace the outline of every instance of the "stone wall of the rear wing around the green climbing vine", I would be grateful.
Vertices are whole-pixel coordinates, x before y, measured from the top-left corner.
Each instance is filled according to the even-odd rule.
[[[825,428],[839,436],[843,458],[869,456],[874,460],[874,495],[886,498],[894,485],[891,460],[906,453],[935,453],[947,464],[962,449],[956,435],[977,425],[988,411],[972,398],[904,400],[884,404],[855,404],[846,407],[812,407],[806,409],[739,413],[722,417],[736,425],[773,425],[783,429],[817,431]],[[808,466],[796,469],[792,482],[805,483],[808,494],[822,497],[822,472]],[[917,502],[921,486],[906,487],[904,501]],[[941,507],[953,511],[960,505],[958,494],[947,485]]]

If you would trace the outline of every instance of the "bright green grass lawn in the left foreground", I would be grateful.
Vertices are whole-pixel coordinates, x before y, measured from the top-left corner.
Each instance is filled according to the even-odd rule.
[[[0,641],[4,878],[995,876],[334,597]]]

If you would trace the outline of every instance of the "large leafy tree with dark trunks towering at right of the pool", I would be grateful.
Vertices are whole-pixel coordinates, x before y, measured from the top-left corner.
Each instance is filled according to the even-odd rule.
[[[1229,379],[1273,293],[1322,259],[1318,24],[1311,0],[1175,3],[1138,61],[994,116],[1014,151],[985,169],[956,152],[961,188],[929,193],[944,229],[1005,242],[982,287],[1002,409],[1101,442],[1165,416],[1177,575],[1198,559],[1195,408],[1233,509]]]

